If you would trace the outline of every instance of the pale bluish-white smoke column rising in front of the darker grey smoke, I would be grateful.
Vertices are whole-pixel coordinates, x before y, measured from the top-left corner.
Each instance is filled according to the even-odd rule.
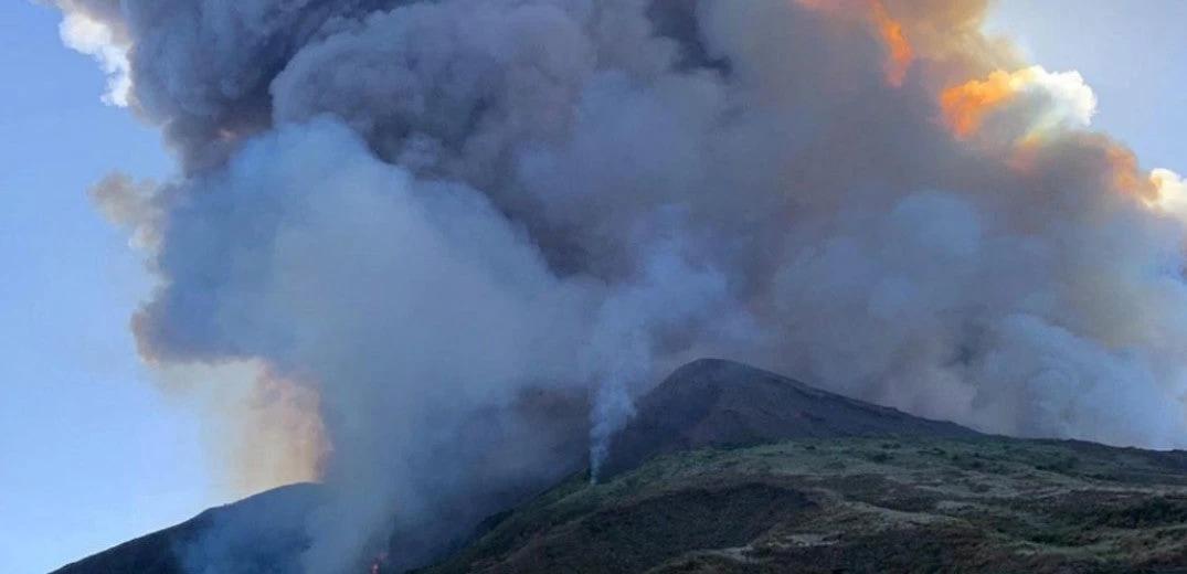
[[[431,466],[406,465],[436,448],[437,425],[451,428],[572,369],[554,345],[565,342],[566,301],[580,299],[481,196],[417,183],[332,122],[248,145],[211,184],[210,193],[253,197],[262,210],[239,216],[278,225],[268,243],[241,251],[248,259],[229,262],[242,291],[214,319],[242,345],[283,342],[268,355],[319,383],[332,503],[311,527],[305,565],[335,572],[368,550],[393,509],[408,519],[431,511],[414,490]],[[227,231],[207,227],[218,221],[174,232],[202,244]],[[319,312],[304,311],[311,306]]]

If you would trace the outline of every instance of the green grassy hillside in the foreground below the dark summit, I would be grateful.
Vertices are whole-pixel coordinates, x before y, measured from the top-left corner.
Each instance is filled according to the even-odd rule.
[[[1187,573],[1187,453],[812,439],[573,476],[426,573]]]

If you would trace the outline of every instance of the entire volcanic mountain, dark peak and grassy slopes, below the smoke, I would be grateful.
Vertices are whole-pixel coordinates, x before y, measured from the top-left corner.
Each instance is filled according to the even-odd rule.
[[[554,423],[588,432],[580,409],[564,412],[575,420]],[[579,444],[566,447],[567,479],[508,493],[468,546],[447,541],[452,555],[421,572],[1187,568],[1185,453],[982,435],[718,359],[640,401],[597,484]],[[246,555],[250,572],[298,572],[317,498],[311,485],[278,489],[56,574],[207,574],[183,569],[191,542],[247,515],[254,527],[197,547]]]

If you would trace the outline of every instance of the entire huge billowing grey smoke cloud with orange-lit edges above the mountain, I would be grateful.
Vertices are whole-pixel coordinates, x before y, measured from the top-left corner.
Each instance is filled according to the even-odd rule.
[[[984,1],[56,4],[178,154],[96,191],[144,355],[317,394],[305,572],[431,560],[700,355],[1187,446],[1182,180]]]

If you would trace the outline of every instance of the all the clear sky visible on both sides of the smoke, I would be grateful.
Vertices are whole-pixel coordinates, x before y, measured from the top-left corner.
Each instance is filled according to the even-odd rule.
[[[1096,126],[1187,172],[1187,1],[1007,0],[992,26],[1100,100]],[[146,382],[127,330],[148,288],[85,189],[169,172],[153,132],[100,102],[57,17],[0,1],[0,574],[43,573],[218,500],[198,421]]]

